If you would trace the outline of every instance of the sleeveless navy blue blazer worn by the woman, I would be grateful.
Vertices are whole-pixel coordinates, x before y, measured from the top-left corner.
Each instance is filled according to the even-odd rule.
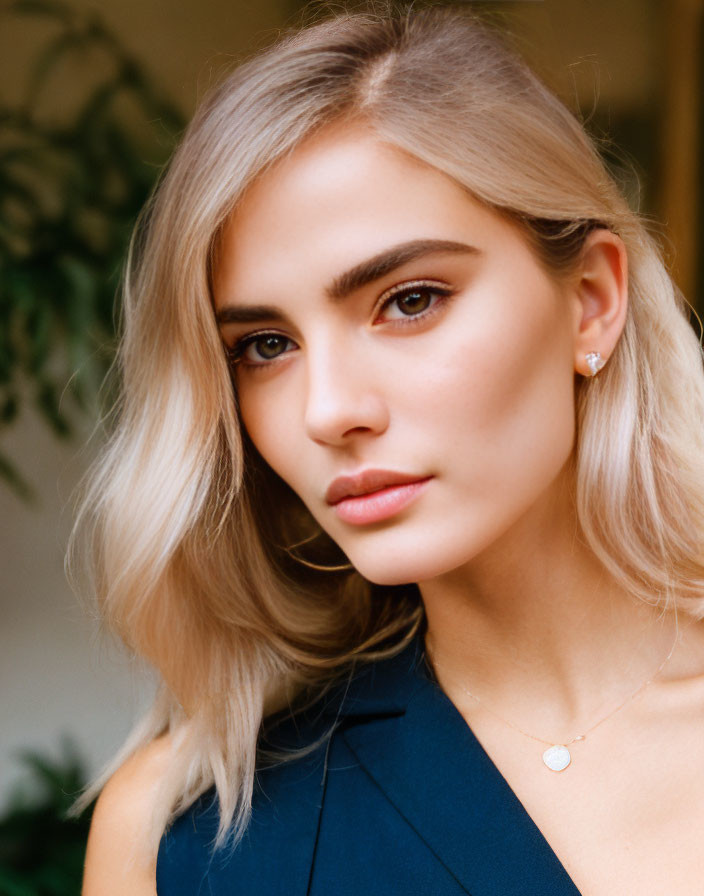
[[[252,820],[214,854],[214,791],[161,840],[158,896],[579,896],[424,662],[422,632],[366,665],[277,743],[309,755],[257,773]]]

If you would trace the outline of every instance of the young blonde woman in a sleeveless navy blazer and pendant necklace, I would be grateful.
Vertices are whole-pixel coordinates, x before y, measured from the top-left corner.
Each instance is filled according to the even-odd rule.
[[[79,530],[161,686],[86,896],[698,891],[701,349],[502,39],[336,13],[242,65],[124,301]]]

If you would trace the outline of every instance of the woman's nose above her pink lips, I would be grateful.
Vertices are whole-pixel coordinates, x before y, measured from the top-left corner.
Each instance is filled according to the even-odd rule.
[[[304,419],[309,438],[341,447],[355,434],[384,432],[389,409],[370,359],[349,342],[331,341],[309,351],[307,360]]]

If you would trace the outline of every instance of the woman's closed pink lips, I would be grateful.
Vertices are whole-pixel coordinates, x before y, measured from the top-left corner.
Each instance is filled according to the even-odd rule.
[[[393,470],[363,470],[353,476],[335,479],[325,500],[335,507],[344,522],[355,525],[375,523],[406,507],[432,478]]]

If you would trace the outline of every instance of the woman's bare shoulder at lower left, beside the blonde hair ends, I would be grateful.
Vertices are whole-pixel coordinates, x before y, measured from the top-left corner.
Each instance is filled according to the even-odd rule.
[[[103,788],[88,836],[83,896],[156,896],[156,856],[147,852],[140,832],[170,746],[167,735],[147,744]]]

